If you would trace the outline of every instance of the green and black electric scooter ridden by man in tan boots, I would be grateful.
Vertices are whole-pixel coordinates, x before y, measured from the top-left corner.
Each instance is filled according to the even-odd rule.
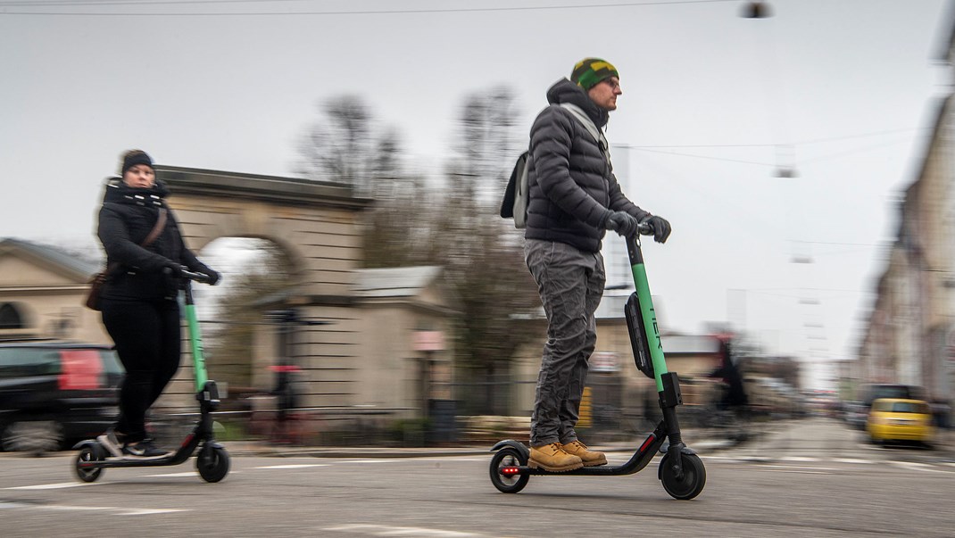
[[[651,235],[652,229],[642,224],[642,235]],[[626,250],[630,257],[633,283],[636,291],[626,301],[626,325],[633,348],[634,362],[637,368],[648,378],[656,381],[660,397],[663,420],[657,424],[653,433],[637,448],[633,456],[621,466],[585,466],[571,471],[553,472],[527,465],[530,451],[518,441],[501,441],[491,449],[495,452],[491,459],[491,483],[503,493],[517,493],[530,480],[531,475],[549,476],[619,476],[639,472],[658,452],[664,456],[657,468],[657,478],[664,489],[675,499],[689,500],[703,491],[707,473],[703,461],[690,447],[683,444],[680,424],[676,419],[676,406],[683,403],[680,384],[676,373],[667,371],[667,362],[657,328],[653,302],[647,283],[647,271],[640,249],[640,238],[626,238]],[[664,441],[669,445],[664,446]]]

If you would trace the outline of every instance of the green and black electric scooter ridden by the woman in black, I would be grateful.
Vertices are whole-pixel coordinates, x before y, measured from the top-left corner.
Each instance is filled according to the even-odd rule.
[[[96,439],[81,441],[74,446],[76,454],[76,476],[83,482],[96,482],[96,479],[108,467],[147,467],[147,466],[177,466],[189,459],[199,448],[196,459],[196,468],[199,475],[206,482],[219,482],[229,472],[229,454],[225,447],[220,445],[212,432],[212,411],[219,406],[219,389],[216,382],[206,376],[205,360],[202,357],[202,338],[199,331],[199,318],[196,314],[196,305],[192,297],[192,280],[208,282],[208,277],[202,273],[182,271],[185,277],[183,295],[185,296],[185,318],[189,329],[192,360],[196,377],[196,400],[199,401],[199,421],[193,430],[186,435],[180,447],[167,456],[152,459],[122,459],[110,457],[109,450],[100,445]],[[202,445],[202,446],[200,446]]]

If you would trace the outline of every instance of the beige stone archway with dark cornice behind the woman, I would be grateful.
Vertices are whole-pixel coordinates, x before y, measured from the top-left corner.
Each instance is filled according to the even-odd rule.
[[[362,259],[358,213],[371,199],[355,197],[347,185],[278,176],[157,166],[171,192],[169,205],[193,251],[216,238],[265,238],[292,259],[293,296],[279,307],[294,307],[305,319],[329,325],[296,325],[292,358],[304,372],[303,404],[352,404],[355,359],[360,347],[359,313],[353,308],[355,270]],[[257,355],[265,364],[276,355],[274,331],[257,335]],[[188,347],[186,346],[187,350]],[[167,391],[169,402],[190,405],[191,359]],[[214,373],[212,373],[214,376]]]

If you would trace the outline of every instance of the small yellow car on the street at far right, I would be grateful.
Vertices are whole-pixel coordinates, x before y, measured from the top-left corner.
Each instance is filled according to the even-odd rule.
[[[869,432],[869,438],[876,443],[928,443],[933,434],[931,407],[922,400],[880,398],[872,403],[865,429]]]

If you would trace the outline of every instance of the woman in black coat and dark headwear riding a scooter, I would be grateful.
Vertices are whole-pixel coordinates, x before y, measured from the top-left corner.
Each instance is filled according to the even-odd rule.
[[[186,248],[168,194],[152,158],[133,150],[122,156],[120,177],[107,183],[99,210],[98,237],[111,268],[100,310],[126,376],[117,423],[98,440],[116,457],[167,454],[147,436],[145,416],[180,365],[182,267],[219,281]]]

